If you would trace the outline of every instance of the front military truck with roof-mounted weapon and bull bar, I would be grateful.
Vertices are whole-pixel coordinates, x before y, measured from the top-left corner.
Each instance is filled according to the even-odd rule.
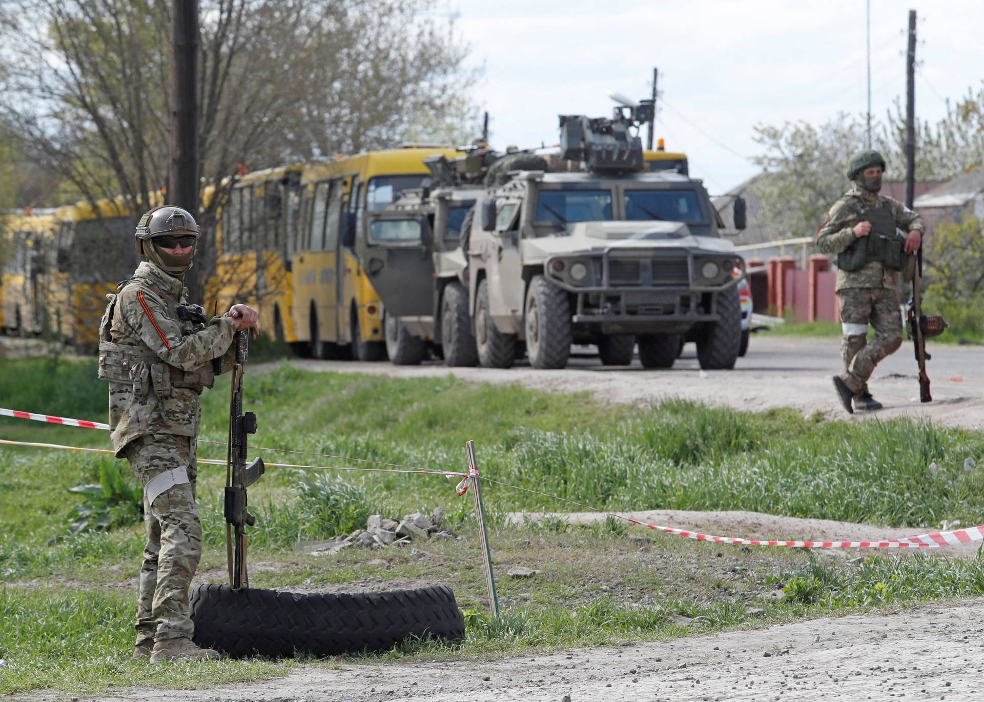
[[[744,262],[700,180],[646,172],[646,109],[562,115],[561,159],[584,171],[520,170],[482,193],[465,256],[481,365],[510,367],[524,345],[533,367],[563,368],[572,344],[625,365],[638,342],[644,366],[668,368],[686,339],[702,368],[734,366]]]

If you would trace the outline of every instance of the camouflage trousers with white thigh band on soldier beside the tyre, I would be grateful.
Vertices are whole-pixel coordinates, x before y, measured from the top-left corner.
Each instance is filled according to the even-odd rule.
[[[202,523],[195,509],[197,443],[189,436],[154,434],[134,439],[123,450],[145,488],[147,546],[140,569],[137,645],[190,638],[195,629],[188,591],[202,556]],[[153,492],[159,494],[149,502]]]

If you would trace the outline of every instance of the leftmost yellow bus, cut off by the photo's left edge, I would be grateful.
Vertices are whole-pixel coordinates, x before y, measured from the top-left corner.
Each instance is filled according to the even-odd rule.
[[[0,329],[28,336],[50,331],[44,314],[53,209],[15,210],[0,224]]]

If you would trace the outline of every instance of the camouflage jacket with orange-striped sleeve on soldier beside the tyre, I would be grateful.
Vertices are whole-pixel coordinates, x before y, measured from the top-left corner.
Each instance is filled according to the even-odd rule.
[[[187,288],[147,261],[109,297],[99,377],[109,380],[109,428],[117,456],[141,436],[197,436],[198,396],[215,382],[212,359],[232,352],[235,322],[231,317],[214,317],[204,325],[180,320]]]

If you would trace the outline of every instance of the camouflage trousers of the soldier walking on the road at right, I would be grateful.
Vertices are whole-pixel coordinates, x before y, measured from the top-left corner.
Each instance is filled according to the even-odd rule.
[[[898,295],[883,287],[845,287],[838,291],[843,339],[840,351],[844,372],[840,378],[855,395],[868,392],[868,379],[885,356],[902,345],[902,317]],[[868,343],[868,325],[875,338]]]

